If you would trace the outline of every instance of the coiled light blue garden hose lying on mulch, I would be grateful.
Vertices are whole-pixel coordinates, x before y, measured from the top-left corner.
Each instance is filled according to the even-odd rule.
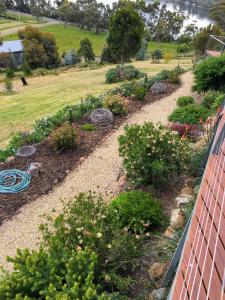
[[[31,175],[20,170],[0,171],[0,194],[14,194],[26,190],[30,184]]]

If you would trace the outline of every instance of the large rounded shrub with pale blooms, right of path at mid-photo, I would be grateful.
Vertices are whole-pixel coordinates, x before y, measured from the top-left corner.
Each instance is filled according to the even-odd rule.
[[[162,188],[184,167],[189,147],[163,125],[125,126],[119,151],[128,179],[135,185]]]

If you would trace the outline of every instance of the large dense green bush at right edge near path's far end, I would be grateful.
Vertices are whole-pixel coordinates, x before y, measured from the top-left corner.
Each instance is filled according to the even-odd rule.
[[[194,90],[225,91],[225,56],[210,57],[197,64],[195,71]]]

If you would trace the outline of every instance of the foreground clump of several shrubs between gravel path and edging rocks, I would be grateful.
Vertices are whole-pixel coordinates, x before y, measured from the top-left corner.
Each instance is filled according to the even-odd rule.
[[[0,279],[1,299],[128,299],[143,242],[165,225],[159,202],[134,191],[106,204],[80,194],[41,226],[38,250],[18,250]]]

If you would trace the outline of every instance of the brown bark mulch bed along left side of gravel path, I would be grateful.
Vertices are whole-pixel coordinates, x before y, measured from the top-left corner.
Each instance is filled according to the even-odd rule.
[[[128,116],[115,117],[111,128],[104,130],[99,129],[92,132],[80,130],[81,143],[75,150],[68,150],[65,153],[57,154],[49,141],[45,140],[36,145],[37,152],[29,161],[27,159],[16,157],[11,162],[0,165],[0,171],[2,171],[6,169],[26,170],[31,161],[42,164],[40,174],[37,177],[32,178],[31,184],[26,191],[19,194],[1,195],[0,224],[3,221],[12,218],[23,205],[51,191],[66,177],[70,170],[79,165],[84,158],[86,158],[97,145],[102,143],[107,135],[115,131],[129,115],[138,111],[145,104],[152,103],[170,95],[179,87],[179,85],[171,83],[166,84],[168,88],[167,93],[165,94],[153,95],[150,92],[143,103],[130,99]],[[87,122],[87,116],[85,116],[79,122],[76,122],[75,125],[79,128],[82,124]]]

